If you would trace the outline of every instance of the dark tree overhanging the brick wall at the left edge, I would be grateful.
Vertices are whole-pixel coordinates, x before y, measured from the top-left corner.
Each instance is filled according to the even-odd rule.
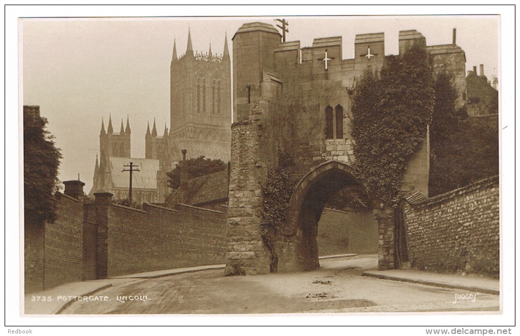
[[[61,153],[45,130],[47,119],[37,109],[23,111],[23,189],[27,222],[56,220],[53,194],[58,191]]]

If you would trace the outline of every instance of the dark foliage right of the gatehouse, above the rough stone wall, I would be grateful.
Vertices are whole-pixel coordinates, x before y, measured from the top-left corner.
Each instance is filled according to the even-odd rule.
[[[457,92],[451,77],[439,74],[430,127],[429,196],[457,189],[499,173],[498,123],[469,118],[456,109]]]

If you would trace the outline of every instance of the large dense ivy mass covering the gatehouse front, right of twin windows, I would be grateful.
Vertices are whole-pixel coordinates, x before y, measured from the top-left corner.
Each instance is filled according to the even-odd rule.
[[[396,204],[407,159],[426,137],[433,113],[433,66],[424,46],[385,57],[379,78],[370,68],[354,90],[354,170],[373,199]]]

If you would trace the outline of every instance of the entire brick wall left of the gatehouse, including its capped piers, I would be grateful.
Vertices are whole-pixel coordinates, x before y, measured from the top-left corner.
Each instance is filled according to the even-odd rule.
[[[176,210],[144,204],[138,210],[111,204],[110,193],[98,196],[96,203],[84,204],[58,193],[54,223],[25,219],[25,293],[84,279],[226,262],[226,212],[184,204]],[[85,264],[85,225],[97,227],[93,274]]]

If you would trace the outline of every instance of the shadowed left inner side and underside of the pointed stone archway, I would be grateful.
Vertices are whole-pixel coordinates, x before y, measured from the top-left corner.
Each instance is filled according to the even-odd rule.
[[[319,267],[318,222],[329,198],[346,187],[366,193],[365,185],[354,176],[352,167],[339,161],[315,167],[297,183],[277,248],[279,271],[308,271]]]

